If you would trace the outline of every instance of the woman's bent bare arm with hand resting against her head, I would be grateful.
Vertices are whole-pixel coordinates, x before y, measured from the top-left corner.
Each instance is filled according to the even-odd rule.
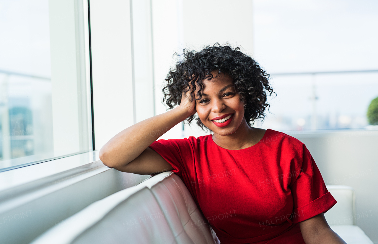
[[[122,172],[151,174],[172,170],[172,166],[148,146],[176,124],[195,114],[195,100],[183,93],[174,109],[130,126],[108,141],[99,158],[108,167]]]

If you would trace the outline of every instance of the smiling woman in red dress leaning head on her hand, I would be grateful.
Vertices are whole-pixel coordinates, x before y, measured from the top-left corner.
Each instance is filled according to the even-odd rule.
[[[99,157],[122,172],[173,170],[222,244],[345,243],[324,218],[336,201],[305,145],[251,126],[269,106],[268,78],[239,48],[186,51],[163,89],[171,110],[121,131]],[[196,113],[213,135],[155,141]]]

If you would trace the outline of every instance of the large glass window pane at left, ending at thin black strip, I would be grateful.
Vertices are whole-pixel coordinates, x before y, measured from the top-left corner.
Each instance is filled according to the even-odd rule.
[[[0,171],[90,149],[83,9],[0,0]]]

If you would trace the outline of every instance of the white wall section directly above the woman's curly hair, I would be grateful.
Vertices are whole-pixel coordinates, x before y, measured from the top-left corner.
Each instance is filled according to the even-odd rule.
[[[252,1],[183,1],[182,18],[184,47],[229,42],[253,55]]]

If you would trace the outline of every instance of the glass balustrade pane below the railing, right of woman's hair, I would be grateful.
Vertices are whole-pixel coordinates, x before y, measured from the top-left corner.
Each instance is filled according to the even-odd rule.
[[[378,95],[378,72],[273,77],[277,97],[270,98],[270,112],[263,127],[324,130],[369,126],[366,112]]]

